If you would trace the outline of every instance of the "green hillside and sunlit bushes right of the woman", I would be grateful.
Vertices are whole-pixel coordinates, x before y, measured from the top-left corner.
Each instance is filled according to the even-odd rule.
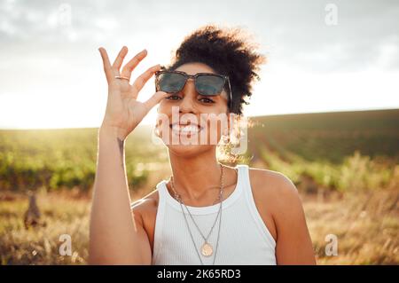
[[[399,110],[265,116],[249,136],[254,156],[300,188],[309,178],[317,190],[340,192],[399,180]]]

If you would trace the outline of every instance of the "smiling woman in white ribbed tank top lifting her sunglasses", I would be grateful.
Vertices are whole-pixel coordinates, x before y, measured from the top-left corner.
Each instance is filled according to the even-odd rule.
[[[108,100],[98,131],[90,263],[315,263],[293,183],[276,171],[225,166],[216,158],[217,142],[231,134],[231,114],[242,114],[265,60],[243,38],[239,29],[199,28],[184,39],[170,66],[150,67],[132,85],[130,75],[146,51],[121,67],[126,47],[112,65],[99,49]],[[153,75],[158,91],[137,101]],[[156,105],[156,132],[168,146],[171,177],[130,205],[124,140]]]

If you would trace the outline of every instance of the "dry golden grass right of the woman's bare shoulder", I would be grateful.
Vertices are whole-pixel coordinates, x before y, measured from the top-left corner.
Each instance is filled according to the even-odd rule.
[[[318,264],[399,263],[399,191],[352,193],[320,201],[304,198]],[[338,255],[326,255],[326,235],[338,239]]]

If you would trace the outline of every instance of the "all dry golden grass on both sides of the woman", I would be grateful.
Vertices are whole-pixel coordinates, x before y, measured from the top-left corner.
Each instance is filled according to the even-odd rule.
[[[318,264],[399,263],[397,189],[372,193],[333,194],[324,200],[302,195]],[[40,193],[38,205],[46,227],[23,226],[27,198],[10,194],[0,200],[2,264],[84,264],[88,256],[90,196]],[[72,255],[59,255],[69,234]],[[338,255],[325,255],[327,234],[338,237]]]

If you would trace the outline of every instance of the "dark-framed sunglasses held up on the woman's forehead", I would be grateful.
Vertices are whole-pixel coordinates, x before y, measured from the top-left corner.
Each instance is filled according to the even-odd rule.
[[[188,75],[181,71],[157,71],[155,72],[155,89],[156,91],[176,93],[184,89],[188,79],[194,80],[195,90],[205,97],[220,95],[227,83],[229,87],[229,109],[231,109],[231,86],[227,75],[212,73]]]

